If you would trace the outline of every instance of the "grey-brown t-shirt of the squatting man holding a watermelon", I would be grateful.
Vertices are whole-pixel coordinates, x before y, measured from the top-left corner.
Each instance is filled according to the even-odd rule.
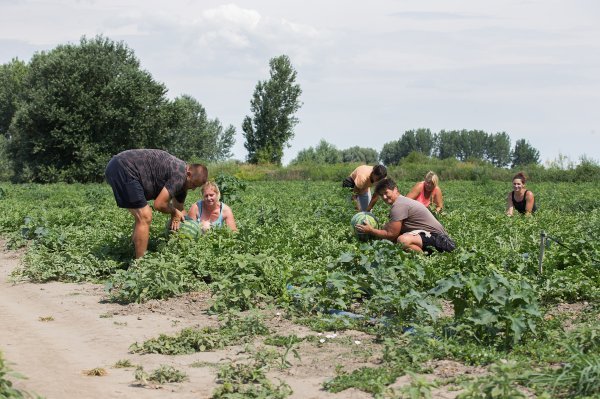
[[[446,230],[429,212],[425,205],[400,195],[390,209],[390,221],[402,222],[400,234],[413,230],[425,230],[430,233],[446,234]]]

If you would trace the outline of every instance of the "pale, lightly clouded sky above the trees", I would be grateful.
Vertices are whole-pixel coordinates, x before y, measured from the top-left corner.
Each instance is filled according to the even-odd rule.
[[[322,139],[380,151],[418,128],[600,160],[597,0],[0,0],[0,64],[96,35],[233,125],[240,160],[255,86],[282,54],[302,89],[284,163]]]

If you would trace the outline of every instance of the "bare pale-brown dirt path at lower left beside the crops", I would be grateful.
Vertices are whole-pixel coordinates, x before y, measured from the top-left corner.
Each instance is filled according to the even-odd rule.
[[[0,246],[4,248],[4,243]],[[194,355],[134,355],[128,352],[134,342],[173,334],[187,326],[215,325],[208,316],[206,296],[192,294],[170,301],[121,306],[103,301],[103,287],[94,284],[17,284],[7,281],[18,267],[20,255],[0,251],[0,350],[11,368],[27,380],[14,380],[15,387],[48,399],[69,398],[209,398],[217,386],[219,364],[239,357],[241,347]],[[43,321],[43,319],[52,320]],[[270,320],[287,333],[292,328],[285,320]],[[293,326],[299,334],[310,334]],[[285,332],[284,332],[285,333]],[[323,356],[333,359],[323,360]],[[317,349],[303,353],[298,367],[288,372],[270,373],[285,380],[294,390],[292,398],[369,398],[370,395],[346,390],[329,394],[321,390],[323,381],[334,375],[336,359],[343,353]],[[172,365],[189,376],[189,382],[166,384],[160,388],[140,387],[134,369],[112,366],[129,359],[145,370]],[[294,359],[295,360],[295,359]],[[345,363],[346,360],[339,360]],[[191,367],[205,362],[206,367]],[[104,368],[108,374],[90,377],[85,370]],[[275,380],[276,381],[276,380]]]

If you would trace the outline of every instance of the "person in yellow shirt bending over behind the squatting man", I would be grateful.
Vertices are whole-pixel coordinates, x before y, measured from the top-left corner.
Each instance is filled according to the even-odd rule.
[[[371,186],[386,176],[387,169],[383,165],[361,165],[344,179],[342,186],[352,188],[352,200],[358,211],[370,212],[379,198],[376,193],[371,198]]]

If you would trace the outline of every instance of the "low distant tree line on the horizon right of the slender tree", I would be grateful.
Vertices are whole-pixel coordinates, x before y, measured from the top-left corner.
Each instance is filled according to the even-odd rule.
[[[511,148],[508,134],[486,133],[481,130],[407,130],[398,140],[387,142],[381,152],[372,148],[352,147],[338,150],[325,140],[316,147],[301,150],[292,164],[339,162],[382,162],[397,165],[411,153],[439,159],[460,161],[487,161],[497,167],[518,167],[538,164],[540,153],[525,139],[519,139]]]

